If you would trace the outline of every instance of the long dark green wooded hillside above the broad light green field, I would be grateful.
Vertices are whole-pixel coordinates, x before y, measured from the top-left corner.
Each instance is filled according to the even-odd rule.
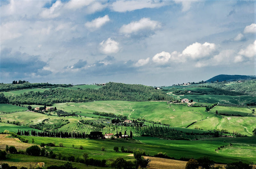
[[[104,94],[102,94],[104,93]],[[63,102],[87,102],[93,100],[127,100],[127,101],[150,101],[172,100],[172,97],[161,90],[155,90],[151,86],[128,85],[123,83],[109,82],[98,90],[79,89],[69,90],[56,88],[44,92],[28,92],[18,96],[10,96],[10,103],[52,105]]]

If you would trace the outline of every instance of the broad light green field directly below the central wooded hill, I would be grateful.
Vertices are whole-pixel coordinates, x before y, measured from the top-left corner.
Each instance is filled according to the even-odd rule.
[[[188,107],[183,104],[166,102],[129,102],[129,101],[93,101],[87,103],[57,103],[57,109],[77,112],[106,112],[126,115],[128,118],[141,118],[148,121],[170,124],[172,127],[187,127],[194,121],[200,121],[214,114],[205,112],[204,107]],[[171,107],[170,107],[171,106]]]

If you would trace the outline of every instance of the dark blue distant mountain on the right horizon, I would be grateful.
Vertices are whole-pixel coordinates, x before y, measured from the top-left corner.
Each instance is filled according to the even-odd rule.
[[[209,80],[206,80],[207,82],[215,82],[219,80],[219,82],[222,82],[224,80],[226,81],[236,81],[236,80],[251,80],[256,79],[256,76],[246,76],[246,75],[218,75],[210,78]]]

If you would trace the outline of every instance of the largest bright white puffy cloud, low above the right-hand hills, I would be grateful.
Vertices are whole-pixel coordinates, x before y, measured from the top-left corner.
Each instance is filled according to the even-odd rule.
[[[214,50],[216,50],[216,45],[214,43],[205,42],[204,44],[201,44],[196,42],[184,49],[182,54],[188,55],[192,59],[196,59],[210,55]]]

